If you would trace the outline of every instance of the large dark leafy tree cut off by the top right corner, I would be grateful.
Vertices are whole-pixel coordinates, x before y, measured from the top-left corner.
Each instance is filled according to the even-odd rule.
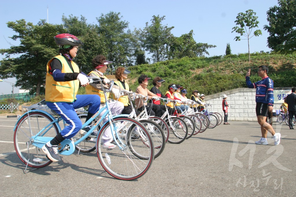
[[[268,47],[274,51],[296,51],[296,1],[278,0],[279,6],[273,6],[267,11]]]

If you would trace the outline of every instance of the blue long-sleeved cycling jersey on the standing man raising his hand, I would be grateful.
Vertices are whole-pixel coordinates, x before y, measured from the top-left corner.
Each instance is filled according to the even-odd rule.
[[[274,82],[268,76],[255,83],[250,81],[250,76],[246,76],[246,83],[248,88],[256,88],[256,102],[270,106],[274,104]]]

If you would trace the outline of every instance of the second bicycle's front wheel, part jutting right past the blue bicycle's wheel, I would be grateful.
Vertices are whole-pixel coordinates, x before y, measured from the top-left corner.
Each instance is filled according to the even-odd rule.
[[[165,134],[160,126],[151,120],[140,120],[150,133],[154,144],[154,159],[157,158],[165,148]]]

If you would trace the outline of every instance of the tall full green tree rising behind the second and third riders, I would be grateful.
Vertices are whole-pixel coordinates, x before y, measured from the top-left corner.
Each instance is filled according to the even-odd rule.
[[[104,41],[104,55],[114,63],[110,65],[111,71],[117,66],[131,66],[133,48],[133,34],[128,29],[128,22],[122,20],[120,12],[101,14],[96,18],[99,22],[97,27],[99,36]]]

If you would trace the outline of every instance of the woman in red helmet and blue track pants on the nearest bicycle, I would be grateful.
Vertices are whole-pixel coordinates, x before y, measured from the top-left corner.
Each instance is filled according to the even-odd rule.
[[[60,160],[57,145],[64,139],[70,139],[80,130],[82,123],[75,109],[89,105],[86,121],[100,108],[98,95],[77,95],[79,82],[85,87],[89,80],[75,64],[81,40],[71,34],[59,34],[54,37],[59,46],[59,55],[53,57],[46,65],[45,100],[47,106],[58,113],[68,124],[42,150],[47,157],[57,162]]]

